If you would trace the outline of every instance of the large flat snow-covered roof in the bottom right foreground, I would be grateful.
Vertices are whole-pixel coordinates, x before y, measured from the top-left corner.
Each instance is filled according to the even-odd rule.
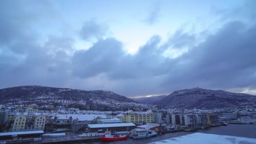
[[[150,144],[256,144],[256,139],[208,133],[192,133]]]

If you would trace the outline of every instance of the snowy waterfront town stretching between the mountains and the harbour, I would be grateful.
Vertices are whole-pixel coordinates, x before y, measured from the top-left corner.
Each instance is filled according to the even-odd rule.
[[[98,101],[99,102],[99,101]],[[107,102],[107,101],[106,101]],[[66,104],[66,103],[64,103]],[[105,131],[126,134],[134,128],[157,133],[193,131],[219,125],[256,124],[256,109],[150,109],[126,111],[83,110],[63,106],[37,104],[0,105],[0,141],[43,143],[59,137],[65,141],[99,139]],[[111,105],[110,105],[111,108]],[[91,136],[91,137],[90,137]]]

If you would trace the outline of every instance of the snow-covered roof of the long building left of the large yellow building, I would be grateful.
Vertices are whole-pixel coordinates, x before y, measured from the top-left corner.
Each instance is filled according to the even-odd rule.
[[[107,118],[106,115],[56,115],[58,120],[68,120],[69,117],[72,117],[72,120],[85,121],[85,120],[94,120],[96,118]],[[51,117],[54,119],[54,117]]]

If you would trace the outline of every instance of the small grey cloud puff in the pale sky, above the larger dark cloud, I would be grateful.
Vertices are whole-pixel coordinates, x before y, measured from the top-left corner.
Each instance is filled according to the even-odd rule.
[[[106,35],[108,27],[103,24],[98,24],[95,21],[85,21],[80,30],[80,37],[83,40],[99,39]]]

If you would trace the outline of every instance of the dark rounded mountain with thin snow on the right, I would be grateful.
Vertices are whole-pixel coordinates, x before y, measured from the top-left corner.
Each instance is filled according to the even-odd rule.
[[[174,91],[156,103],[164,108],[214,109],[256,106],[256,96],[245,93],[231,93],[222,90],[191,88]]]

